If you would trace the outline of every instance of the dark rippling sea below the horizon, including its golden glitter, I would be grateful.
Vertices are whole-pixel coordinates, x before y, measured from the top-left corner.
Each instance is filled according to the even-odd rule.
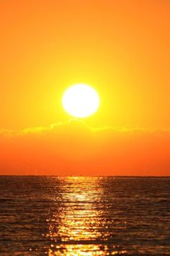
[[[170,178],[0,176],[0,255],[170,255]]]

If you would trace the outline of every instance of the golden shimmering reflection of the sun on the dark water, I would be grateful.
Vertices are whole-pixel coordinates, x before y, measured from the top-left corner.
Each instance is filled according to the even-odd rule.
[[[104,189],[98,179],[64,177],[61,197],[56,200],[52,218],[47,220],[49,256],[116,255],[114,244],[107,244],[106,211],[101,203]]]

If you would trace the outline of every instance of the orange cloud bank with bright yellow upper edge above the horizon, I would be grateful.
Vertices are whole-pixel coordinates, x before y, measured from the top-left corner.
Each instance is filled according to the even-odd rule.
[[[70,119],[0,131],[0,174],[169,175],[170,129],[89,127]]]

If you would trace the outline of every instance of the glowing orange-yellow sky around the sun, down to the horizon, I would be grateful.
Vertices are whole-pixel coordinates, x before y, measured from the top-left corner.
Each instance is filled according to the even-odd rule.
[[[0,1],[0,33],[0,174],[170,175],[170,1]]]

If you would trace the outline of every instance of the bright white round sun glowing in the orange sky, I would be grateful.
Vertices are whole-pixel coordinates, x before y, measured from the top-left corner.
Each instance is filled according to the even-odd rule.
[[[63,93],[62,104],[71,116],[84,118],[91,116],[99,108],[99,95],[89,85],[76,84]]]

